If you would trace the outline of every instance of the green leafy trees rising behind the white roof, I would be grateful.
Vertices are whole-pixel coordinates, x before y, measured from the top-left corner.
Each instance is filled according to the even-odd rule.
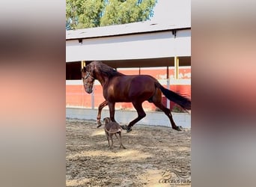
[[[157,0],[67,0],[66,28],[141,22],[153,16]]]

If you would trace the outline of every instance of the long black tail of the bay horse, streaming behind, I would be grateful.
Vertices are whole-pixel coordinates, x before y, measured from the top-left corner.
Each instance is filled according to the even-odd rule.
[[[185,96],[181,96],[180,94],[175,93],[174,91],[170,91],[164,88],[162,85],[159,84],[159,82],[156,82],[156,87],[159,88],[162,91],[162,93],[172,102],[177,103],[185,110],[191,110],[190,99],[186,98]]]

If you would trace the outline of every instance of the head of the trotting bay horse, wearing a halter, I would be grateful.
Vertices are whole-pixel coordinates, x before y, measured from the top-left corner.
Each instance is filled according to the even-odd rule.
[[[93,85],[94,85],[94,75],[93,75],[93,70],[91,69],[90,64],[88,64],[86,67],[82,68],[82,82],[85,87],[85,91],[87,93],[92,93],[93,91]]]

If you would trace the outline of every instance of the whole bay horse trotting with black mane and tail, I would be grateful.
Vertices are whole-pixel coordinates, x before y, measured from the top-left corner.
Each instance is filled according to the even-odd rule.
[[[162,105],[162,93],[169,100],[177,103],[185,110],[191,110],[190,99],[164,88],[152,76],[127,76],[103,64],[101,61],[92,61],[90,64],[83,67],[81,72],[83,85],[87,93],[92,93],[95,79],[97,79],[103,87],[103,96],[106,100],[99,106],[97,115],[98,122],[100,121],[101,110],[104,106],[109,105],[110,119],[115,122],[115,103],[132,102],[132,105],[138,113],[138,117],[129,122],[128,126],[122,126],[123,129],[127,129],[127,132],[130,132],[132,126],[146,116],[142,108],[142,102],[148,101],[153,102],[156,107],[165,112],[171,122],[172,129],[177,131],[182,130],[181,126],[176,126],[174,123],[171,111]]]

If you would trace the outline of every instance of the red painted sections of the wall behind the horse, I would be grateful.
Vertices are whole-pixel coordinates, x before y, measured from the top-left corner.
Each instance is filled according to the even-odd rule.
[[[138,75],[138,68],[134,70],[118,70],[126,75]],[[156,79],[166,79],[166,69],[144,69],[141,68],[141,74],[150,75]],[[179,70],[180,79],[190,79],[191,68],[183,68]],[[174,69],[169,69],[170,77],[174,76]],[[166,88],[166,85],[164,85]],[[170,85],[171,91],[187,96],[191,98],[191,85]],[[104,101],[103,88],[101,85],[94,85],[94,107],[97,108],[100,103]],[[167,105],[165,96],[162,96],[163,105]],[[83,85],[66,85],[66,106],[77,106],[91,108],[91,94],[85,92]],[[174,103],[171,102],[171,108],[174,107]],[[133,109],[132,103],[130,102],[119,102],[116,103],[115,108],[118,109]],[[155,111],[156,106],[153,103],[145,101],[143,108],[147,111]]]

